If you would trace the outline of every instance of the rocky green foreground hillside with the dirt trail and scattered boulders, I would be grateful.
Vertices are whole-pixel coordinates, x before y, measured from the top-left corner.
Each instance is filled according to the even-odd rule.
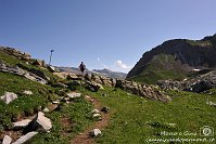
[[[216,89],[192,93],[98,74],[63,74],[58,77],[61,71],[30,54],[0,48],[0,143],[215,143],[214,133],[204,130],[216,128]],[[212,75],[203,79],[215,81]]]

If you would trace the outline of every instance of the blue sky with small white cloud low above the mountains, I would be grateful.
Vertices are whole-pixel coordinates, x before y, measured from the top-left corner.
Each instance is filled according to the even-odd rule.
[[[52,65],[128,71],[163,41],[216,32],[215,0],[0,0],[0,45]]]

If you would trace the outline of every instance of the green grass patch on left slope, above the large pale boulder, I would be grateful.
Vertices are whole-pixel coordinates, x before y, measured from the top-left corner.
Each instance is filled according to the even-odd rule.
[[[48,100],[54,99],[52,88],[27,80],[12,74],[0,73],[0,95],[14,92],[18,99],[9,105],[0,102],[0,127],[9,127],[12,118],[34,114],[40,106],[45,107]],[[25,90],[33,91],[33,95],[25,95]]]

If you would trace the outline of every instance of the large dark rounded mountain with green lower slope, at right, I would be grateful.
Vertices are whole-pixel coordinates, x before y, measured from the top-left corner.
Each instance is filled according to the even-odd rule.
[[[155,83],[182,80],[193,69],[216,68],[216,35],[202,40],[175,39],[145,52],[128,73],[128,79]]]

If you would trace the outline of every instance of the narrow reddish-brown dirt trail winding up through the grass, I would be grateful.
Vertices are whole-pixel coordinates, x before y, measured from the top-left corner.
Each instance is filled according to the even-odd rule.
[[[91,96],[86,96],[86,99],[93,104],[96,109],[100,110],[102,108],[101,103],[97,99],[93,99]],[[97,121],[94,125],[90,126],[84,132],[75,136],[72,140],[72,144],[92,144],[93,139],[89,136],[89,132],[93,129],[104,129],[109,125],[110,114],[104,114],[101,112],[101,121]]]

